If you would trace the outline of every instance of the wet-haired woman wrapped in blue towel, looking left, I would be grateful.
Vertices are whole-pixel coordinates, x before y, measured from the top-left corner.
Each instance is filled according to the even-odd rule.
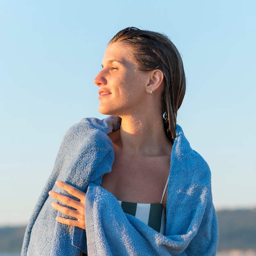
[[[94,83],[110,117],[65,135],[22,255],[215,255],[209,167],[176,125],[185,93],[176,47],[156,32],[119,31]]]

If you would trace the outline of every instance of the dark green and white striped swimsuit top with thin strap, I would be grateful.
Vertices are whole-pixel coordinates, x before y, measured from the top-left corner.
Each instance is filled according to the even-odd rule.
[[[164,194],[168,186],[169,177],[164,187],[162,200],[156,204],[144,204],[144,203],[131,203],[118,201],[121,208],[125,213],[128,213],[135,218],[141,220],[149,227],[155,229],[155,231],[165,234],[166,215],[163,207]]]

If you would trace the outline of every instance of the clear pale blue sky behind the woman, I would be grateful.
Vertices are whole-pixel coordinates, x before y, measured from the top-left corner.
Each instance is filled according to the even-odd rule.
[[[98,112],[108,41],[135,26],[183,56],[178,113],[217,209],[256,207],[256,1],[0,1],[0,225],[27,223],[65,131]]]

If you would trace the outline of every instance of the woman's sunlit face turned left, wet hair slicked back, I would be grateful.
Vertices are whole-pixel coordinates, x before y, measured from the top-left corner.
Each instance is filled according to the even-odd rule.
[[[94,79],[99,86],[99,112],[124,116],[141,110],[148,96],[145,90],[148,80],[148,73],[136,70],[129,45],[122,42],[108,45],[102,70]]]

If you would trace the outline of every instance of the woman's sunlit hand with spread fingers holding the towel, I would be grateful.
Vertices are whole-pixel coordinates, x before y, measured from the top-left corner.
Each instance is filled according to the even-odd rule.
[[[76,189],[74,186],[71,186],[65,182],[62,182],[60,180],[56,181],[56,185],[59,186],[61,189],[64,189],[71,195],[74,195],[76,198],[80,199],[79,201],[76,201],[72,198],[69,198],[65,195],[61,195],[60,193],[57,193],[53,190],[49,191],[49,195],[52,198],[55,198],[56,200],[62,202],[63,204],[66,204],[76,210],[72,210],[68,207],[65,207],[61,204],[58,204],[56,202],[52,202],[52,207],[56,209],[57,211],[61,211],[67,216],[71,216],[76,218],[77,220],[71,220],[63,217],[57,217],[56,220],[58,222],[61,222],[63,224],[80,227],[81,229],[85,229],[85,193],[80,191],[79,189]]]

